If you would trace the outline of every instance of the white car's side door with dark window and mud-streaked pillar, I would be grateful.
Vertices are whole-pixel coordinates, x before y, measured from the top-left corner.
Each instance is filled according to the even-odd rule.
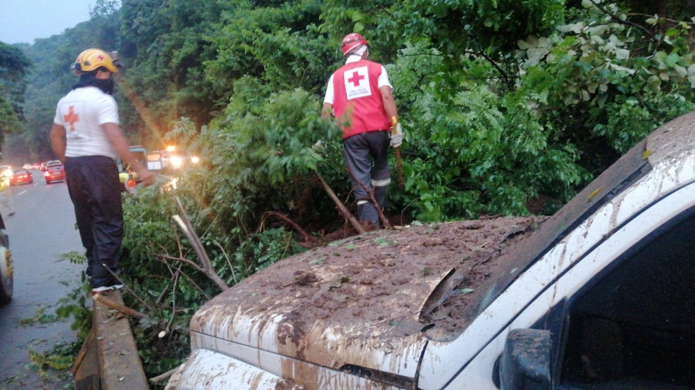
[[[605,205],[520,275],[467,329],[478,331],[464,332],[461,342],[480,348],[472,348],[471,360],[443,388],[695,385],[689,369],[695,363],[695,332],[689,323],[695,318],[695,299],[689,298],[695,285],[695,184],[637,211],[633,203],[639,203],[639,196],[646,201],[645,191],[653,189],[648,183],[628,190],[623,202]],[[601,237],[592,237],[596,235]],[[523,372],[529,362],[517,361],[518,366],[507,371],[504,364],[500,367],[503,353],[514,355],[510,330],[527,328],[546,332],[547,341],[536,346],[517,343],[511,360],[545,350],[547,356],[531,366],[547,360],[547,385],[518,382],[531,380]],[[505,350],[505,343],[512,344],[512,352]],[[505,387],[510,375],[514,378]]]

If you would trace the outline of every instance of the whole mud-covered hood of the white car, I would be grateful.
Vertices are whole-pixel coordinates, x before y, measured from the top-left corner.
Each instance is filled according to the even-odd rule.
[[[500,221],[490,230],[498,237],[514,224]],[[489,237],[485,227],[465,221],[382,230],[289,257],[206,303],[190,324],[193,348],[206,335],[220,341],[214,345],[415,378],[427,345],[423,330],[434,326],[421,314],[453,291],[461,280],[452,284],[451,275],[470,253],[488,250],[459,241],[472,230]]]

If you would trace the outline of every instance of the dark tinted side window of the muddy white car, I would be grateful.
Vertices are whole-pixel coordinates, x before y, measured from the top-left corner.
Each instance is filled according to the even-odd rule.
[[[569,305],[562,384],[580,389],[695,386],[695,217],[600,274]]]

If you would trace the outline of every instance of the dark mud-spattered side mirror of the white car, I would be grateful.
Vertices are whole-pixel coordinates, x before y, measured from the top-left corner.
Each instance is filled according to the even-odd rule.
[[[550,390],[550,331],[510,331],[499,369],[502,390]]]

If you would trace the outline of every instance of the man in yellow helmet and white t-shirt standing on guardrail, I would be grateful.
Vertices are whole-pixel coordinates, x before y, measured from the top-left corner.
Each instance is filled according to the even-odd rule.
[[[113,276],[119,271],[123,239],[123,186],[115,158],[131,164],[145,185],[154,183],[155,176],[130,152],[120,129],[118,106],[111,96],[118,69],[111,56],[99,49],[85,50],[72,70],[79,81],[58,101],[51,146],[65,165],[92,294],[99,294],[122,287]]]

